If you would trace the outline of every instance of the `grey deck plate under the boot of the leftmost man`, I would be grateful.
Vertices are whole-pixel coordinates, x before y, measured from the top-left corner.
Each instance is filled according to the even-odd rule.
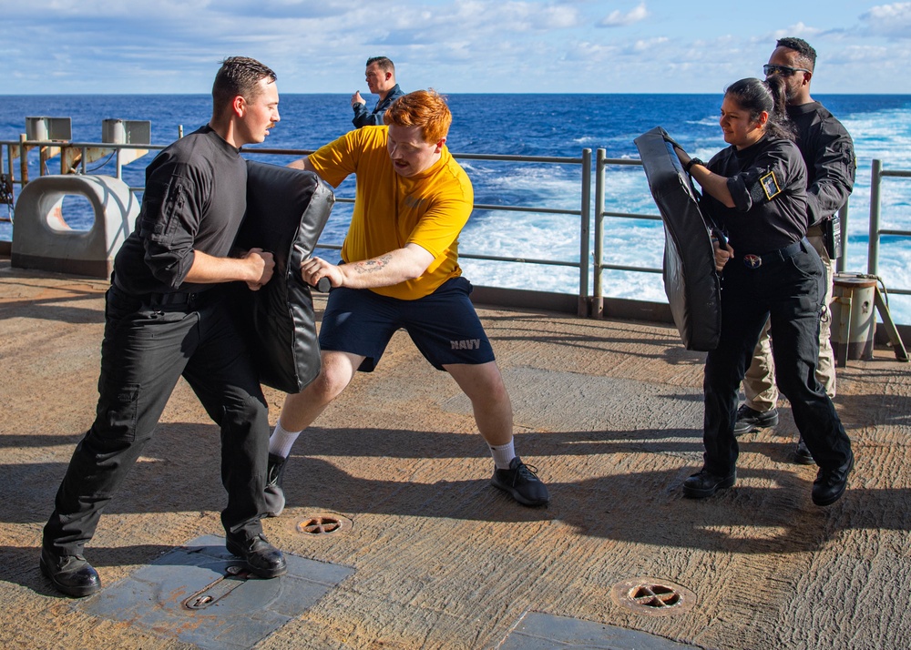
[[[224,538],[204,535],[76,606],[201,648],[249,648],[354,573],[291,554],[285,560],[288,573],[280,578],[244,580],[209,606],[188,609],[184,601],[224,576],[228,566],[240,564],[225,549]]]

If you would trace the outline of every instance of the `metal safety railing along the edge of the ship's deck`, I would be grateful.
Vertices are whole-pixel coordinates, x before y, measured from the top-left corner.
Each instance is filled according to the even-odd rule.
[[[65,160],[79,160],[79,172],[87,173],[88,152],[98,149],[111,150],[116,152],[116,174],[122,178],[122,165],[120,163],[121,151],[127,149],[145,149],[157,150],[164,148],[157,145],[123,145],[123,144],[97,144],[97,143],[75,143],[75,142],[56,142],[56,141],[3,141],[0,142],[0,175],[10,184],[24,185],[28,179],[27,156],[32,149],[38,148],[41,156],[40,173],[44,174],[46,160],[57,153],[61,154],[61,172],[73,171],[73,168],[66,168]],[[3,151],[6,150],[6,164],[4,163]],[[78,157],[72,154],[63,155],[64,150],[77,150]],[[280,149],[280,148],[251,148],[243,149],[244,154],[251,155],[275,155],[275,156],[293,156],[302,157],[312,153],[311,149]],[[56,155],[56,154],[55,154]],[[520,264],[541,264],[578,269],[578,314],[591,315],[599,317],[602,314],[603,305],[603,284],[602,272],[605,270],[633,271],[641,273],[660,273],[660,268],[647,266],[629,266],[611,264],[604,260],[604,220],[605,218],[620,219],[640,219],[647,221],[660,221],[658,214],[643,214],[636,212],[619,212],[605,209],[606,187],[605,171],[609,166],[624,167],[641,167],[642,163],[638,159],[632,158],[609,158],[605,149],[597,149],[595,158],[595,167],[592,169],[592,152],[591,149],[582,149],[580,157],[536,157],[536,156],[505,156],[494,154],[453,154],[459,160],[485,160],[499,161],[519,164],[548,164],[558,166],[578,166],[579,170],[579,208],[552,208],[548,206],[509,206],[500,204],[475,204],[474,208],[478,210],[499,210],[520,212],[527,214],[556,214],[568,215],[578,218],[579,234],[579,253],[576,261],[565,259],[531,259],[520,257],[502,257],[494,255],[484,255],[460,251],[459,256],[464,259],[478,259],[494,262],[512,262]],[[14,160],[20,161],[20,177],[15,178],[13,172],[15,165]],[[590,249],[589,238],[592,235],[591,218],[592,218],[592,171],[594,171],[594,249]],[[884,170],[880,160],[873,161],[872,178],[870,184],[870,241],[868,250],[868,272],[871,275],[877,275],[879,263],[879,245],[883,236],[911,237],[911,230],[881,229],[880,228],[880,197],[881,184],[883,178],[911,178],[911,171],[907,170]],[[141,187],[130,187],[130,190],[142,191]],[[353,203],[351,197],[337,197],[336,201],[340,203]],[[846,259],[847,249],[847,222],[848,209],[845,205],[839,213],[842,228],[842,255],[836,261],[836,268],[844,270],[844,260]],[[341,249],[341,245],[335,242],[320,242],[318,248],[321,249]],[[592,263],[589,265],[589,255],[592,255]],[[591,281],[589,281],[591,279]],[[589,293],[589,286],[591,291]],[[911,289],[906,288],[887,288],[894,294],[911,295]]]

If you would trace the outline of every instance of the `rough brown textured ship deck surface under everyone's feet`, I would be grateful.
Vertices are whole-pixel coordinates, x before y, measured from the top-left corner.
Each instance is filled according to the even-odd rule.
[[[38,570],[41,528],[95,410],[105,288],[0,261],[3,647],[192,647],[167,625],[93,614],[91,599],[59,596]],[[399,332],[377,370],[302,434],[288,507],[264,523],[286,553],[350,574],[256,647],[530,647],[531,622],[551,620],[539,614],[654,647],[906,646],[911,367],[891,350],[838,371],[835,403],[857,459],[841,501],[811,503],[815,468],[791,461],[786,404],[775,430],[740,438],[736,486],[692,501],[681,482],[701,465],[703,355],[683,350],[676,330],[479,311],[512,396],[517,451],[548,483],[550,505],[521,507],[490,486],[468,401]],[[274,422],[282,395],[267,399]],[[87,547],[101,594],[223,535],[224,500],[218,429],[181,383]],[[299,532],[327,513],[340,531]],[[681,604],[636,605],[622,597],[628,584],[679,587]]]

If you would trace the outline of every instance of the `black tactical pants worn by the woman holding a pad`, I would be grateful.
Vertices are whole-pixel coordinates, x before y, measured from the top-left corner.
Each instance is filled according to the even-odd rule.
[[[730,259],[722,276],[722,332],[705,361],[705,468],[730,476],[737,462],[737,391],[766,320],[771,320],[775,381],[791,402],[794,422],[816,463],[841,467],[851,442],[834,406],[815,377],[825,271],[804,240],[793,254],[763,255],[750,268]]]

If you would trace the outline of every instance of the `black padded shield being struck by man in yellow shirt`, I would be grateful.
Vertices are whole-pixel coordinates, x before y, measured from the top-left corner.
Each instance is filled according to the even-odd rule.
[[[270,251],[275,272],[259,291],[237,283],[236,311],[260,381],[279,391],[300,392],[320,372],[301,262],[311,257],[334,203],[332,188],[312,172],[247,161],[247,212],[235,245]]]

